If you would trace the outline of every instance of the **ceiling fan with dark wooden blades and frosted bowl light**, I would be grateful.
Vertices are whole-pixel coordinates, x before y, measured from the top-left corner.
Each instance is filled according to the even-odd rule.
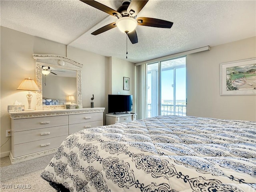
[[[123,0],[122,5],[117,10],[114,10],[94,0],[80,0],[80,1],[98,10],[106,12],[107,14],[116,16],[118,18],[116,22],[110,23],[92,32],[92,35],[98,35],[107,30],[118,27],[120,31],[127,34],[132,44],[135,44],[135,43],[138,43],[138,36],[135,30],[137,25],[158,27],[158,28],[171,28],[173,24],[173,22],[156,19],[156,18],[148,18],[148,17],[136,18],[137,14],[146,5],[148,0]]]

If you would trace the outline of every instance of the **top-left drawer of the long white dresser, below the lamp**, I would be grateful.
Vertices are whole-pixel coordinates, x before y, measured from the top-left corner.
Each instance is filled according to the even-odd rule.
[[[12,132],[68,125],[68,115],[12,119]]]

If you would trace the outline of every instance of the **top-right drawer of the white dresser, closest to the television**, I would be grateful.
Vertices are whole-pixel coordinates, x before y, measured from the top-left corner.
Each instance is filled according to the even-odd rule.
[[[103,112],[69,115],[69,124],[103,120]]]

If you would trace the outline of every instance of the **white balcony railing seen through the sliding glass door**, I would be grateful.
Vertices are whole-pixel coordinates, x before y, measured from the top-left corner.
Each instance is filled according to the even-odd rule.
[[[186,105],[174,105],[162,104],[161,115],[180,115],[186,116]],[[151,104],[148,104],[148,117],[151,117]]]

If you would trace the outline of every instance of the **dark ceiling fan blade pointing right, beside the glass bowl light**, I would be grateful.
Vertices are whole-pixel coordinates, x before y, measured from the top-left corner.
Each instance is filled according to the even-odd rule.
[[[138,17],[136,18],[138,21],[138,25],[150,26],[150,27],[159,27],[159,28],[171,28],[173,22],[156,19],[156,18],[149,18],[149,17]]]

